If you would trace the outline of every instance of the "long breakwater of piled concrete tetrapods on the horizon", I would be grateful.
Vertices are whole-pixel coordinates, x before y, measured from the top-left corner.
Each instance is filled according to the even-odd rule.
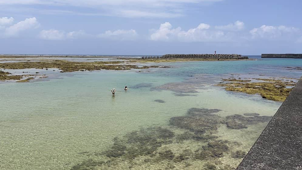
[[[161,57],[142,57],[142,58],[217,58],[217,59],[248,59],[240,54],[165,54]]]

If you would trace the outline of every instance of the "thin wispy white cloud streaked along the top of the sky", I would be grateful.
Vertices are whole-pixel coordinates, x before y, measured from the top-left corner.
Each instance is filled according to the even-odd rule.
[[[49,5],[52,11],[36,8],[30,12],[52,14],[57,14],[56,10],[66,6],[70,11],[61,10],[59,11],[61,14],[172,18],[185,15],[186,11],[190,10],[189,5],[208,5],[219,1],[223,0],[1,0],[0,5],[27,5],[28,7],[32,5],[33,8],[34,5]],[[73,6],[76,8],[72,8]],[[22,6],[22,8],[28,7]],[[97,13],[82,12],[83,10],[79,8],[92,8],[90,11],[97,9]]]

